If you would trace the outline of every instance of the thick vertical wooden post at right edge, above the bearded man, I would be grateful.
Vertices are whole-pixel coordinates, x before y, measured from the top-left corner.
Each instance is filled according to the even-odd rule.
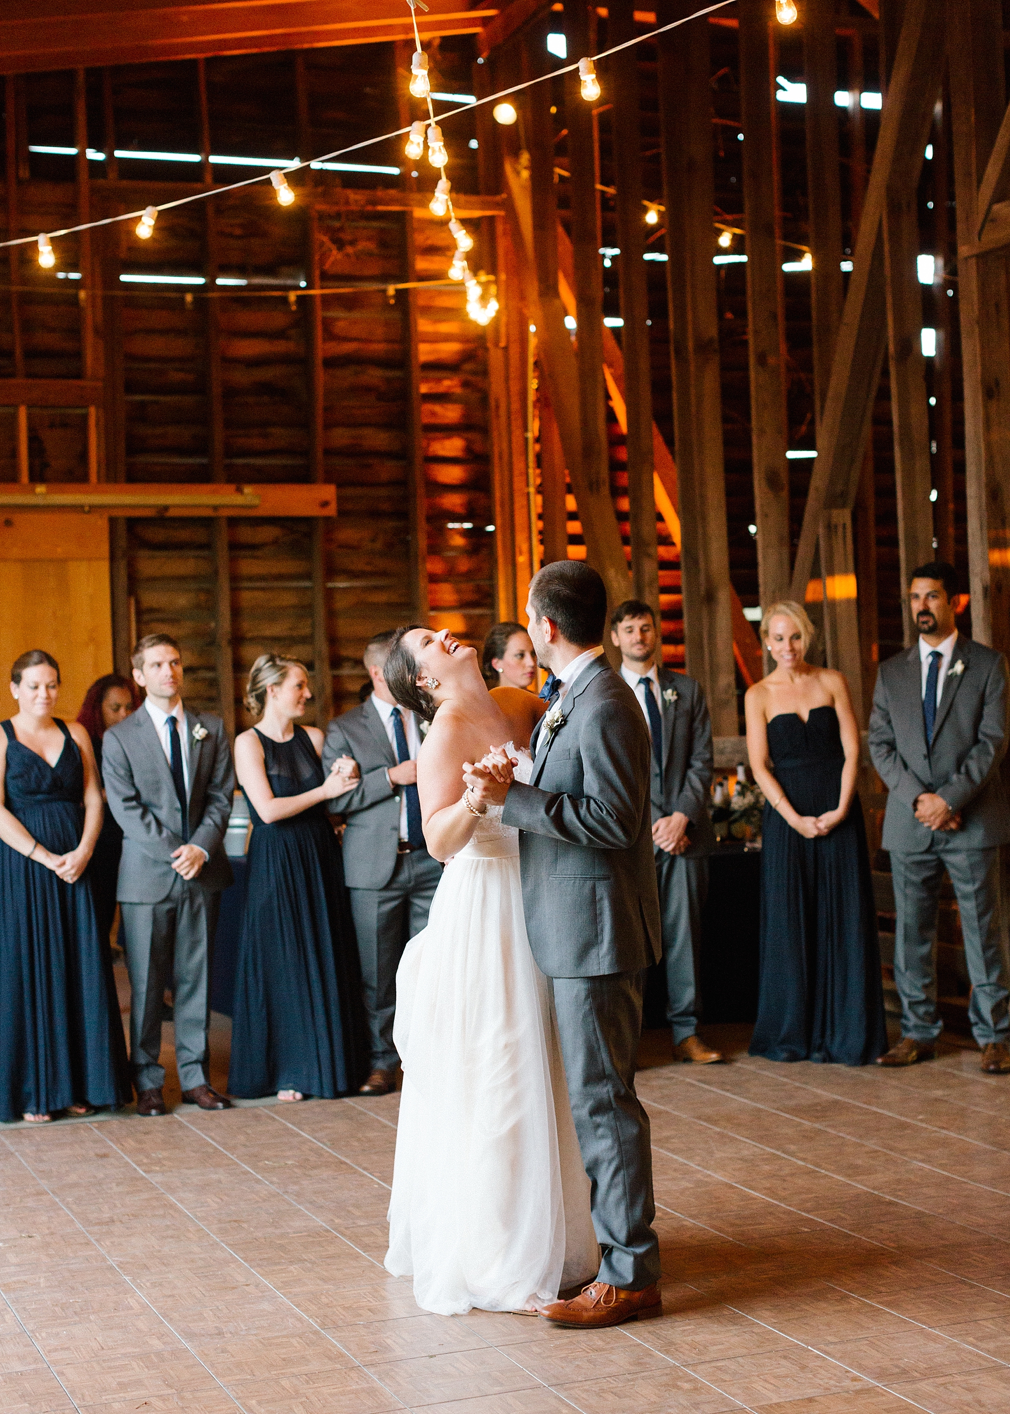
[[[977,240],[977,192],[1006,102],[1000,0],[949,0],[958,245]],[[972,636],[1010,649],[1010,318],[1006,252],[958,260]]]

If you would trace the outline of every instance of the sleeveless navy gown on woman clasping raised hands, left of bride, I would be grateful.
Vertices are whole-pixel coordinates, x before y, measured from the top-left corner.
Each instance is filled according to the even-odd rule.
[[[303,727],[263,744],[274,796],[323,785],[323,764]],[[249,884],[235,966],[228,1089],[334,1096],[368,1070],[358,945],[344,861],[324,805],[265,824],[252,802]]]

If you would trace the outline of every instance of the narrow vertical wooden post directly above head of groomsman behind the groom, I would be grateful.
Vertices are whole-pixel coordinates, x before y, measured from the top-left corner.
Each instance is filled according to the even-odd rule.
[[[634,0],[610,0],[608,44],[635,34]],[[610,62],[614,150],[617,167],[617,243],[621,247],[621,352],[628,416],[628,505],[631,583],[635,597],[652,607],[659,622],[659,560],[656,551],[655,467],[652,460],[652,366],[649,361],[649,291],[645,281],[645,208],[642,205],[642,124],[639,117],[638,49],[624,49]],[[603,349],[603,342],[601,342]]]

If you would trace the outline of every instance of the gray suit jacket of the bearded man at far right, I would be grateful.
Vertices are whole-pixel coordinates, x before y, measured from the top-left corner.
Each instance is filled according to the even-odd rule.
[[[886,850],[924,854],[1010,843],[1010,810],[1000,779],[1009,710],[1006,658],[959,633],[928,747],[918,643],[881,665],[869,738],[870,758],[888,790]],[[944,833],[919,824],[914,806],[924,792],[944,796],[959,810],[962,829]]]

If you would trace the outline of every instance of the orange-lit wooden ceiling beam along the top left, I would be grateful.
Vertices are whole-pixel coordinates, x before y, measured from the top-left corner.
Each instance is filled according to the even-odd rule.
[[[461,0],[427,0],[417,7],[422,41],[480,34],[497,6],[468,8]],[[338,44],[413,38],[400,0],[7,0],[0,18],[0,54],[8,74],[197,59],[214,54],[262,54]]]

